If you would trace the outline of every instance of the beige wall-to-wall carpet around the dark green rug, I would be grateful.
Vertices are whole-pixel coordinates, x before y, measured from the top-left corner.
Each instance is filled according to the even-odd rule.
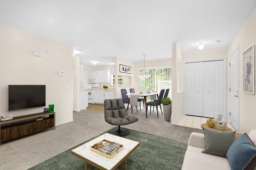
[[[94,106],[96,109],[92,108]],[[59,125],[56,130],[49,129],[3,143],[0,146],[0,169],[27,169],[113,128],[104,120],[102,105],[89,107],[83,112],[74,112],[74,122]],[[182,141],[188,141],[193,131],[202,133],[202,130],[171,125],[162,115],[157,118],[156,113],[149,114],[146,119],[144,109],[138,113],[133,111],[139,121],[125,128]]]

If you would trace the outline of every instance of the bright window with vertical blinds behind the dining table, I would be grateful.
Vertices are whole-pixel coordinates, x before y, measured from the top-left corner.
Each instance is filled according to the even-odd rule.
[[[142,72],[142,70],[140,70]],[[140,89],[142,91],[161,91],[161,89],[170,89],[169,96],[171,97],[172,81],[171,68],[158,68],[146,70],[151,76],[149,78],[140,79]]]

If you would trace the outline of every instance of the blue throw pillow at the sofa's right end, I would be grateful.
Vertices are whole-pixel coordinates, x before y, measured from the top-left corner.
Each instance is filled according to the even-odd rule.
[[[227,158],[233,170],[253,169],[256,166],[256,146],[246,133],[233,142]]]

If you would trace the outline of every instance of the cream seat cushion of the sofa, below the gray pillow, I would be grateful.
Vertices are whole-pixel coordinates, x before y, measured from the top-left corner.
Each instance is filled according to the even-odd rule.
[[[201,153],[204,149],[188,146],[183,164],[182,169],[189,169],[189,170],[199,170],[199,169],[207,169],[207,170],[221,170],[230,169],[228,164],[228,159],[225,157],[220,157],[216,155],[210,154],[203,154]]]

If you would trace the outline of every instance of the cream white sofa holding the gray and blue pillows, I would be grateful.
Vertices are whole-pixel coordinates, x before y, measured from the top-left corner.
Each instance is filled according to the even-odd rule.
[[[256,145],[256,130],[249,133],[249,137]],[[230,169],[228,159],[225,157],[204,154],[204,134],[193,132],[188,140],[188,147],[183,160],[182,170],[199,169]],[[254,168],[256,170],[256,167]]]

